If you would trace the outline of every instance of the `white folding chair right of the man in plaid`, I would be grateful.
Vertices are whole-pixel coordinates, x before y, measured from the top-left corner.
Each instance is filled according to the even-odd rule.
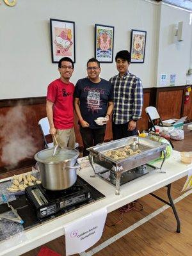
[[[159,113],[157,112],[157,109],[155,107],[147,107],[145,108],[145,112],[148,115],[149,122],[152,124],[152,129],[154,131],[159,129],[159,132],[162,132],[164,125]],[[168,126],[167,128],[168,132],[172,132],[175,129],[173,126]]]

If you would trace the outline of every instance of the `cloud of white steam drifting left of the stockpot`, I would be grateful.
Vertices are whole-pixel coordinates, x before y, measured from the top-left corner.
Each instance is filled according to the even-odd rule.
[[[0,116],[1,161],[6,166],[16,166],[22,159],[32,157],[37,148],[28,130],[26,111],[16,106]],[[30,115],[30,113],[29,113]]]

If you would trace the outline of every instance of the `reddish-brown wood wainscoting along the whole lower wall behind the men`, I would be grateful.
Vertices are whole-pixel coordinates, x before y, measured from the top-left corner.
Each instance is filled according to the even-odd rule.
[[[156,106],[159,111],[159,115],[163,120],[168,118],[180,118],[182,116],[188,116],[188,119],[192,119],[192,93],[190,93],[189,102],[184,104],[185,91],[186,86],[144,88],[143,113],[141,120],[138,121],[138,130],[143,131],[148,129],[148,117],[145,113],[145,108],[147,108],[147,106]],[[0,100],[0,174],[9,172],[8,170],[26,168],[27,166],[35,164],[35,160],[33,158],[34,154],[44,148],[44,140],[38,127],[38,121],[46,116],[45,103],[45,97]],[[16,106],[20,106],[20,111],[22,112],[22,115],[24,115],[24,120],[22,124],[18,124],[17,122],[14,122],[15,124],[13,124],[12,118],[10,118],[11,120],[6,120],[7,132],[4,134],[3,138],[1,131],[2,127],[4,127],[4,122],[2,122],[4,120],[4,116],[6,116],[8,112],[13,110]],[[79,143],[79,147],[83,147],[76,114],[74,123],[76,141]],[[23,159],[17,164],[17,166],[8,166],[7,168],[2,161],[2,151],[4,150],[4,147],[11,142],[9,141],[9,138],[11,138],[12,141],[17,141],[17,138],[13,138],[12,136],[9,136],[9,134],[14,132],[15,137],[17,137],[17,134],[22,131],[22,129],[20,129],[20,125],[25,125],[28,134],[33,138],[35,151],[34,154],[32,154],[33,156]],[[106,136],[104,140],[113,140],[111,118],[106,127]],[[18,147],[21,147],[21,145],[18,145]],[[17,148],[15,151],[17,151]]]

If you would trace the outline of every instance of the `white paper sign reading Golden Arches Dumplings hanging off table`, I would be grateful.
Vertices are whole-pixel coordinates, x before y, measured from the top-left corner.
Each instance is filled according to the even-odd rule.
[[[107,209],[100,209],[81,220],[65,225],[66,255],[84,252],[99,241],[106,222]]]

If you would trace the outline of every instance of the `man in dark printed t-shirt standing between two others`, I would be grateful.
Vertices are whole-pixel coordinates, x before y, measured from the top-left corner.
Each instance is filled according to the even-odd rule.
[[[104,141],[106,125],[96,124],[95,119],[106,117],[109,120],[113,111],[113,87],[99,77],[99,61],[92,58],[86,67],[88,77],[77,81],[74,93],[74,107],[84,145],[83,156],[88,156],[86,148]]]

